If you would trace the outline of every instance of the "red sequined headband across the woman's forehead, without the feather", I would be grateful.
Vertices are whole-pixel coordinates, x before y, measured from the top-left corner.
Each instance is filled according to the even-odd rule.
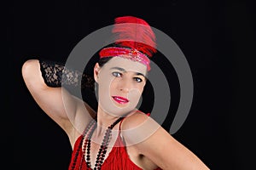
[[[110,47],[110,48],[103,48],[100,51],[100,58],[105,57],[123,57],[125,59],[131,59],[133,61],[138,61],[143,65],[147,66],[147,70],[150,71],[150,60],[148,56],[143,54],[142,52],[138,51],[137,49],[133,48],[119,48],[119,47]],[[120,56],[122,55],[122,56]]]

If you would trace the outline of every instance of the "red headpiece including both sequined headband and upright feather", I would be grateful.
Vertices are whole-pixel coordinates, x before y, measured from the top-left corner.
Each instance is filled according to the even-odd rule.
[[[113,26],[114,42],[119,47],[103,48],[100,57],[125,57],[147,65],[150,70],[150,60],[156,53],[154,31],[145,20],[134,16],[116,18]]]

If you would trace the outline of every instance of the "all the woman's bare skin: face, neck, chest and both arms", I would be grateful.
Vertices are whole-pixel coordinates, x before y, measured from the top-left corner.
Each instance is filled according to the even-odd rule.
[[[94,68],[94,78],[99,86],[97,114],[84,101],[69,94],[64,88],[49,88],[41,76],[37,59],[30,59],[22,66],[22,76],[32,97],[66,133],[74,145],[81,132],[97,116],[98,126],[92,135],[90,160],[95,162],[105,129],[119,116],[126,116],[121,125],[121,136],[127,153],[143,169],[209,169],[194,153],[167,133],[152,118],[137,111],[137,103],[146,84],[147,67],[139,62],[114,57],[108,63]],[[107,92],[107,93],[106,93]],[[129,99],[120,104],[113,96]],[[113,127],[112,146],[117,138],[119,123]],[[146,131],[144,130],[146,129]],[[111,147],[108,147],[105,160]],[[92,163],[93,165],[94,163]]]

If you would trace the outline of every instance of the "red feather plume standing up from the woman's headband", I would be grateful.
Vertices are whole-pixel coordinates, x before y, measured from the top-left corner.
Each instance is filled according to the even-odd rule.
[[[113,35],[115,43],[122,47],[135,48],[149,57],[156,53],[154,31],[145,20],[134,16],[118,17]]]

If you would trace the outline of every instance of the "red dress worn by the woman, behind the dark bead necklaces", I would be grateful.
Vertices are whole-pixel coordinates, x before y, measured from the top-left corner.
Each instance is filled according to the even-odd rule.
[[[121,122],[120,122],[121,124]],[[119,124],[119,129],[120,129]],[[76,140],[74,148],[73,148],[73,154],[71,158],[71,162],[69,165],[69,170],[73,167],[73,160],[75,159],[75,154],[77,153],[77,150],[79,150],[79,154],[77,156],[77,161],[75,164],[75,170],[91,170],[91,168],[88,168],[86,165],[86,162],[84,160],[84,156],[82,153],[82,147],[79,147],[79,144],[81,143],[81,140],[83,139],[83,135],[79,136],[79,138]],[[102,164],[102,170],[143,170],[141,167],[138,167],[131,159],[129,158],[125,144],[123,143],[123,140],[120,136],[120,131],[118,138],[115,141],[115,145],[119,147],[113,147],[112,150],[109,152],[108,157],[105,161],[103,161]],[[160,170],[160,168],[156,168],[155,170]]]

